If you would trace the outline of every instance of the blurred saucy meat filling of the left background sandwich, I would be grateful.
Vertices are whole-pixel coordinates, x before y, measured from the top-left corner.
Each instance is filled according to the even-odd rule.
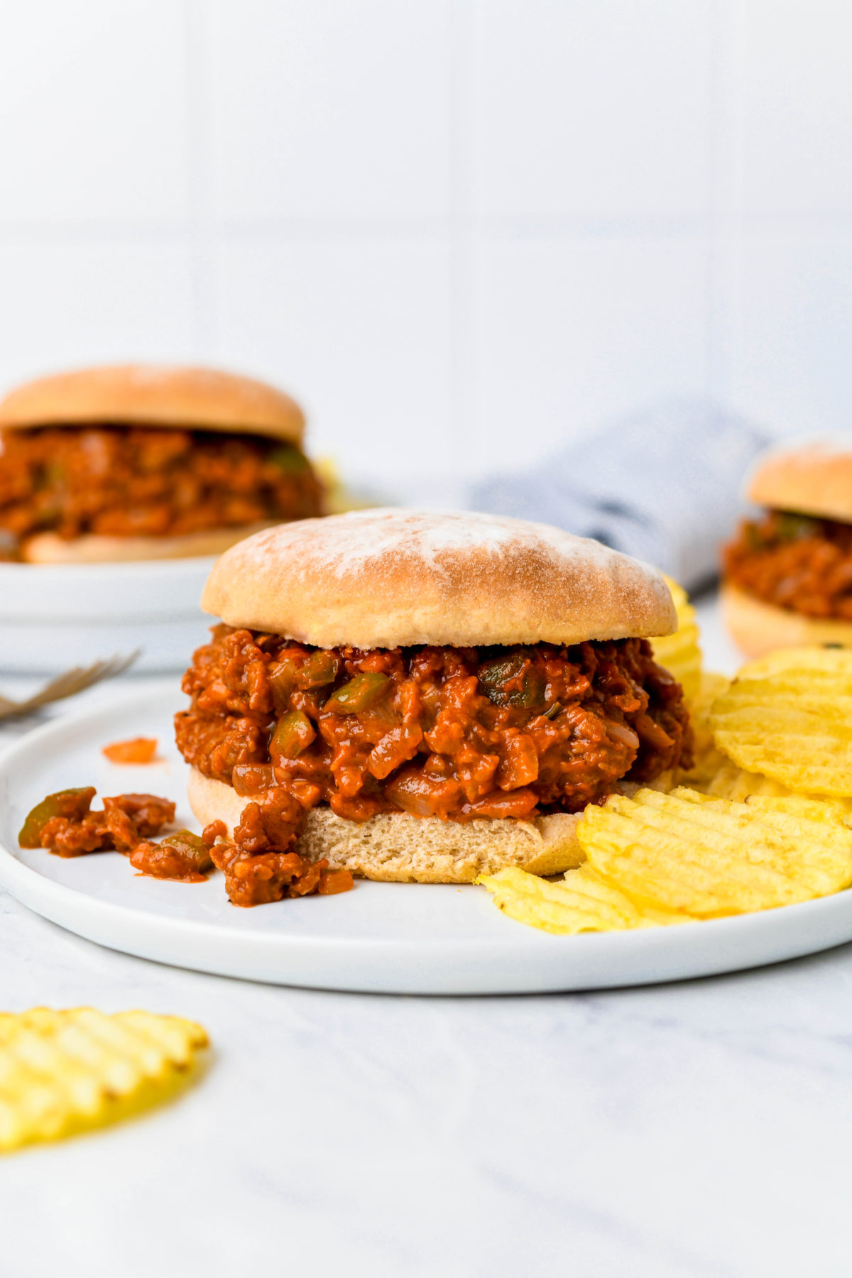
[[[165,537],[322,514],[322,486],[291,443],[217,431],[6,431],[0,532]]]

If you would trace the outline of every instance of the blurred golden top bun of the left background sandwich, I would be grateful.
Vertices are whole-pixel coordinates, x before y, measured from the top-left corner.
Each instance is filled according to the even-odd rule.
[[[266,382],[213,368],[115,364],[40,377],[0,400],[0,429],[161,426],[270,435],[301,443],[299,405]]]

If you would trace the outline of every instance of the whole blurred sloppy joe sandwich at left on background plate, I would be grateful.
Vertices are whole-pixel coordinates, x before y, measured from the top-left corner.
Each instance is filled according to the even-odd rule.
[[[0,557],[34,564],[215,555],[322,514],[282,391],[207,368],[128,364],[0,401]]]

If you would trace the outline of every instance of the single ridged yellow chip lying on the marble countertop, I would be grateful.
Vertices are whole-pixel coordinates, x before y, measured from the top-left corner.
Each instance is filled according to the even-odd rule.
[[[152,1012],[0,1012],[0,1151],[102,1127],[170,1099],[207,1034]]]

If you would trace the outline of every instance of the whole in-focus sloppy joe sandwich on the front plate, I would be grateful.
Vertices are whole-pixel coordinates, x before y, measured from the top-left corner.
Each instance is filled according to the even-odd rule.
[[[646,638],[676,629],[663,578],[545,524],[303,520],[226,551],[202,607],[176,739],[240,905],[277,898],[287,850],[386,881],[561,872],[586,804],[690,764]]]

